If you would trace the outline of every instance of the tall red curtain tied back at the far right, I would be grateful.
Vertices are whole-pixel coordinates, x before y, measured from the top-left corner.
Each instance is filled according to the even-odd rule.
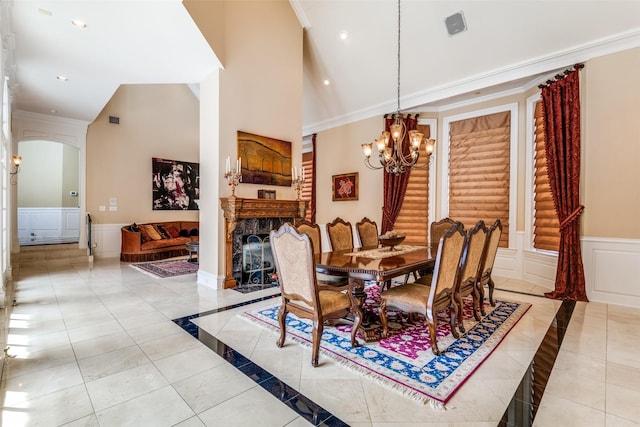
[[[560,221],[556,284],[548,298],[588,301],[580,249],[580,82],[578,70],[542,88],[547,170]]]

